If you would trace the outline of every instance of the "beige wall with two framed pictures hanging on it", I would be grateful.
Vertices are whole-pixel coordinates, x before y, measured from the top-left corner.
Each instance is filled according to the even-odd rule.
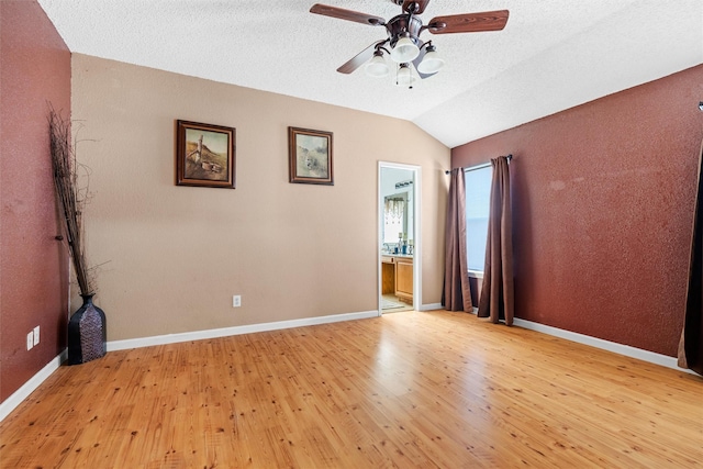
[[[376,310],[379,160],[422,166],[440,301],[450,152],[414,124],[80,54],[71,104],[109,340]],[[236,127],[235,190],[174,185],[177,119]],[[333,187],[288,182],[289,125],[334,132]]]

